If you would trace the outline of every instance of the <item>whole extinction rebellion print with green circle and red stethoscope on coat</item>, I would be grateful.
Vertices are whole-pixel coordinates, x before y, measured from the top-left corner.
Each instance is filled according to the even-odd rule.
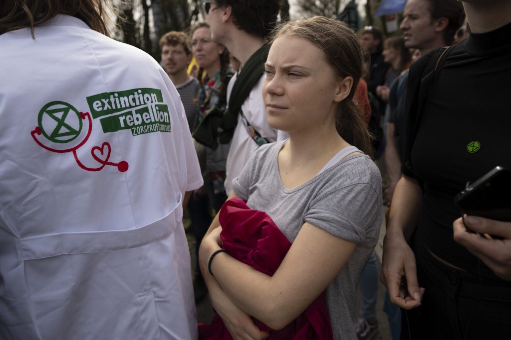
[[[34,141],[48,151],[72,153],[83,170],[100,171],[109,165],[125,172],[129,168],[128,162],[111,162],[112,149],[106,141],[90,149],[90,155],[98,166],[86,166],[78,158],[77,150],[87,142],[92,132],[92,119],[99,118],[104,133],[124,129],[130,129],[132,136],[171,132],[169,108],[160,90],[141,88],[104,92],[87,97],[87,103],[90,113],[80,112],[64,101],[45,104],[39,111],[37,126],[30,133]]]

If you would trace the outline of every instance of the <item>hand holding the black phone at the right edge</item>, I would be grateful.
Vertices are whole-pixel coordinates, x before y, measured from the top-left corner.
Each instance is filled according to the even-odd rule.
[[[511,222],[467,215],[464,219],[472,231],[500,236],[504,239],[483,238],[474,232],[469,232],[463,224],[463,219],[458,218],[453,223],[454,241],[480,258],[495,275],[511,281]]]

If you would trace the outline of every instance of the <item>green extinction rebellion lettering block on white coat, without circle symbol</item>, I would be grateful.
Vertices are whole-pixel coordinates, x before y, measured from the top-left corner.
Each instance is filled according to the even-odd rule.
[[[142,88],[104,92],[87,97],[87,103],[92,118],[100,118],[105,133],[130,129],[131,134],[137,136],[171,131],[169,108],[160,90]]]

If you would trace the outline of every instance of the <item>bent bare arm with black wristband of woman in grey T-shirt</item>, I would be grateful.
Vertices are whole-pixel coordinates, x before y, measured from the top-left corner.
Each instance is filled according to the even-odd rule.
[[[207,264],[219,249],[220,230],[205,237],[200,260]],[[355,249],[355,243],[305,223],[273,276],[219,253],[212,271],[237,306],[273,329],[281,329],[303,312],[333,281]]]

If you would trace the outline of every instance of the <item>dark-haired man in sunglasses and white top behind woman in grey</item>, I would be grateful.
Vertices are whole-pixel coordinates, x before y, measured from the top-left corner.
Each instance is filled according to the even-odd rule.
[[[246,79],[246,72],[261,66],[261,76],[237,114],[237,125],[231,140],[226,164],[225,190],[233,189],[236,178],[250,155],[264,142],[274,142],[277,132],[268,125],[262,98],[263,71],[267,50],[265,38],[275,27],[279,10],[278,0],[204,0],[213,40],[224,45],[229,53],[241,63],[240,70],[230,80],[227,102],[231,106],[233,87],[240,88],[238,81]],[[256,65],[257,64],[257,65]],[[254,68],[252,68],[252,66]],[[259,72],[259,69],[257,70]]]

